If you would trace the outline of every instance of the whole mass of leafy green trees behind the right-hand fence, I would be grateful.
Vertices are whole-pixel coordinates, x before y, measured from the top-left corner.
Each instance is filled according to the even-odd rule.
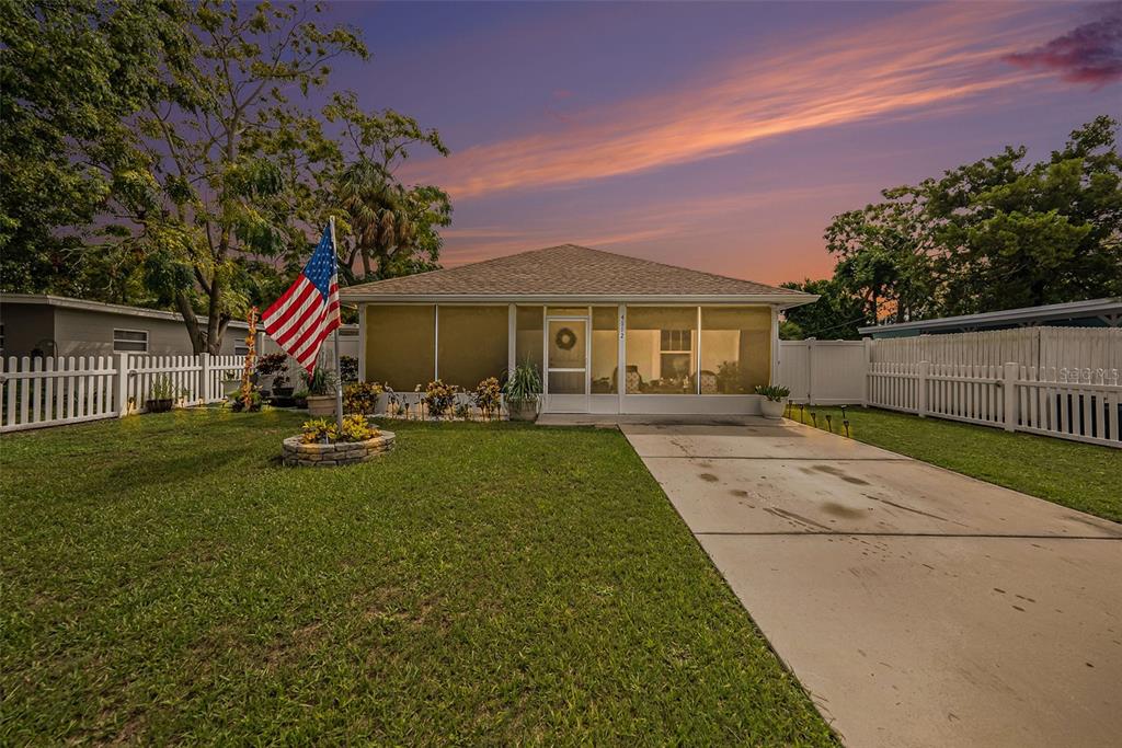
[[[824,297],[858,302],[868,321],[903,321],[1122,294],[1118,128],[1100,117],[1047,160],[1006,148],[835,216]],[[804,314],[843,325],[846,306]]]

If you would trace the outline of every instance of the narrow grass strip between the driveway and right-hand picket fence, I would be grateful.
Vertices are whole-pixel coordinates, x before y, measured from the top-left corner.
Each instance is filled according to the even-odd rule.
[[[826,428],[843,433],[839,408],[806,408]],[[854,438],[1072,509],[1122,521],[1122,450],[1063,438],[1009,433],[939,418],[852,407]],[[791,415],[799,419],[799,408]]]

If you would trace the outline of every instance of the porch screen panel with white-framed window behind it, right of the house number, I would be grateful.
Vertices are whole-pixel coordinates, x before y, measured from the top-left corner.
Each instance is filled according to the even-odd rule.
[[[628,395],[697,393],[696,306],[628,306]]]

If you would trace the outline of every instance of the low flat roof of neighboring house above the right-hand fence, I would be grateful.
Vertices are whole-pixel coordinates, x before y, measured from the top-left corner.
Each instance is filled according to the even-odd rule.
[[[941,335],[955,332],[978,332],[982,330],[1011,330],[1015,327],[1038,327],[1042,325],[1061,327],[1119,327],[1122,326],[1122,297],[1092,298],[1067,304],[1027,306],[1018,310],[965,314],[920,322],[896,322],[892,324],[859,327],[862,335],[874,339],[911,338],[913,335]]]

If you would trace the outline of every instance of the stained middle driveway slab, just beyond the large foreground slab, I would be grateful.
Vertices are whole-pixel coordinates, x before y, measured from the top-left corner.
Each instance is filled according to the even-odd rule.
[[[644,462],[697,534],[891,533],[1122,538],[1122,525],[1116,523],[917,460],[649,456]]]

